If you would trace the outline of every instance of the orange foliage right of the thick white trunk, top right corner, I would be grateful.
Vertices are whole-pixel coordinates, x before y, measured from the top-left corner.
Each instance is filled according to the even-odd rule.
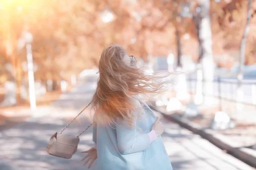
[[[220,52],[229,50],[239,51],[240,41],[244,33],[241,25],[246,25],[244,18],[247,16],[247,2],[247,0],[221,0],[220,2],[211,2],[213,35],[217,35],[218,48],[222,48]],[[253,17],[256,14],[256,1],[252,2],[251,8],[252,20],[250,25],[253,27],[256,24],[256,18]],[[245,64],[251,65],[255,63],[253,49],[256,34],[253,31],[249,31],[248,35],[248,42],[245,48]],[[216,45],[217,43],[215,43]],[[239,60],[239,55],[230,57],[233,60]]]

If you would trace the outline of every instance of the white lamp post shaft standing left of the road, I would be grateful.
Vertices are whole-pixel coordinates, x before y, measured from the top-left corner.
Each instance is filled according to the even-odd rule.
[[[31,44],[26,45],[27,51],[27,62],[28,62],[28,76],[29,76],[29,100],[31,110],[36,108],[36,99],[35,99],[35,81],[34,81],[34,71],[33,71],[33,57]]]

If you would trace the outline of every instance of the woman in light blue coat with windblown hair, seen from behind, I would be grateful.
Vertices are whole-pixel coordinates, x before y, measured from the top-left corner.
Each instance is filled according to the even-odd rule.
[[[84,163],[97,170],[172,170],[159,118],[139,96],[160,93],[162,77],[146,75],[120,45],[110,45],[99,60],[99,79],[92,99],[93,142]],[[84,160],[82,159],[82,161]]]

